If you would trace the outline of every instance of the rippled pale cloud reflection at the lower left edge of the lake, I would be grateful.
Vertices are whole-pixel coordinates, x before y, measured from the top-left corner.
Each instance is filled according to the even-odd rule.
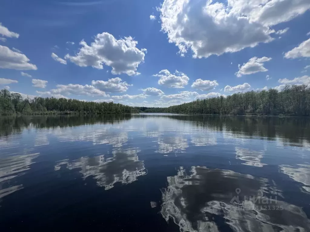
[[[14,178],[23,175],[30,169],[33,159],[39,153],[0,157],[0,198],[22,189],[22,185],[15,185]]]

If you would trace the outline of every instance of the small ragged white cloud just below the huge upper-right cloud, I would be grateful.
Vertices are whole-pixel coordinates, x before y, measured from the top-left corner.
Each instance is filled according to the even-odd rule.
[[[241,77],[242,75],[249,75],[257,72],[266,72],[268,69],[263,66],[264,62],[268,62],[270,60],[271,58],[265,56],[262,58],[257,58],[256,56],[252,57],[247,63],[243,63],[242,66],[239,64],[239,71],[237,71],[235,74],[237,77]]]

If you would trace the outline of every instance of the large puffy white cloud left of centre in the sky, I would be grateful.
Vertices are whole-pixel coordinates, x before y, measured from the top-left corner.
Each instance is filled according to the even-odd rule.
[[[78,54],[70,56],[67,54],[65,59],[69,59],[80,67],[92,66],[97,69],[103,69],[103,65],[112,67],[112,74],[126,73],[127,75],[136,75],[137,67],[144,62],[146,49],[139,50],[138,44],[132,37],[124,39],[115,39],[113,35],[103,32],[97,34],[95,41],[87,45],[81,41]]]

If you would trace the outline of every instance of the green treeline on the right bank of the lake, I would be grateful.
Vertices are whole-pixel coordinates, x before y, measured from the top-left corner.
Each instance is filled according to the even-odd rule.
[[[286,85],[282,91],[234,93],[227,97],[196,100],[167,108],[148,108],[146,113],[289,115],[310,116],[310,89],[307,85]]]

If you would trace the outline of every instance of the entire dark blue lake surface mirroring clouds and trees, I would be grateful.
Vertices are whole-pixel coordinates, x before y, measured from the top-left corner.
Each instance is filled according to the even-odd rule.
[[[0,231],[310,231],[310,119],[0,117]]]

